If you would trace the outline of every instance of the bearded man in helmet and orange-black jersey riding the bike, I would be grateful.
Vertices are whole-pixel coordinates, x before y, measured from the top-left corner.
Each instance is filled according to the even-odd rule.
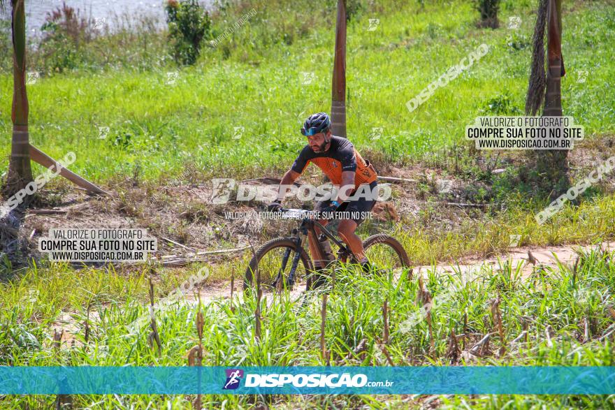
[[[310,162],[314,163],[328,176],[336,188],[340,187],[337,192],[333,192],[330,199],[319,201],[314,211],[320,211],[321,214],[329,216],[335,211],[350,212],[352,219],[340,219],[338,234],[346,242],[357,261],[361,261],[363,270],[370,270],[363,243],[355,230],[363,221],[366,212],[370,212],[376,203],[376,170],[369,161],[363,159],[349,140],[333,136],[330,129],[331,119],[325,112],[310,115],[305,120],[301,133],[307,137],[307,145],[303,147],[291,169],[282,177],[280,186],[278,186],[277,199],[268,205],[268,210],[270,212],[280,210],[287,191],[286,187],[291,186],[297,180]],[[357,192],[361,185],[363,185],[362,189]],[[319,222],[326,225],[328,219],[319,219]],[[320,234],[318,227],[316,230]],[[315,259],[317,245],[312,243],[310,237],[308,237],[308,246]],[[322,269],[324,266],[317,266],[317,268]]]

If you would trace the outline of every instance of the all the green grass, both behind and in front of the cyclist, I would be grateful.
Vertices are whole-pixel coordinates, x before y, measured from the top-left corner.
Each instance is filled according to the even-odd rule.
[[[309,2],[297,3],[298,7],[309,6]],[[232,24],[249,7],[221,12],[225,17],[215,22],[216,33],[224,31],[224,24]],[[55,158],[74,151],[77,161],[71,168],[108,186],[118,186],[117,180],[133,177],[136,170],[139,178],[151,182],[147,186],[154,189],[161,179],[191,182],[195,174],[205,180],[212,176],[240,179],[281,174],[303,146],[298,135],[303,119],[311,112],[330,108],[333,1],[326,2],[325,11],[305,21],[292,15],[286,22],[275,13],[265,21],[265,12],[275,7],[280,3],[261,5],[257,8],[261,15],[233,33],[231,40],[203,50],[198,64],[189,68],[174,66],[168,56],[162,58],[166,50],[157,34],[152,34],[147,55],[134,54],[138,58],[131,57],[138,50],[132,43],[149,41],[147,34],[139,34],[132,43],[113,45],[110,38],[94,43],[92,47],[108,47],[110,54],[117,56],[101,63],[101,57],[92,54],[78,70],[45,75],[29,86],[31,141]],[[461,142],[465,125],[478,115],[512,115],[515,108],[522,110],[533,8],[530,1],[505,1],[500,12],[504,28],[495,31],[475,27],[477,13],[470,2],[438,1],[421,8],[419,1],[403,6],[384,1],[360,9],[348,29],[349,138],[382,165],[412,163],[436,149]],[[614,41],[613,10],[612,2],[565,4],[563,52],[567,77],[562,82],[563,106],[565,115],[572,115],[585,126],[587,138],[615,131],[614,96],[605,92],[615,78],[614,50],[608,46]],[[507,17],[513,15],[522,19],[517,31],[505,28]],[[314,23],[321,17],[327,24]],[[380,19],[377,30],[366,30],[369,18]],[[406,101],[481,43],[491,47],[489,54],[447,87],[437,89],[417,110],[408,112]],[[579,70],[589,71],[586,82],[577,82]],[[179,72],[175,85],[165,85],[169,71]],[[303,72],[313,72],[314,83],[302,85]],[[6,136],[0,142],[0,155],[5,158],[10,151],[11,93],[12,79],[6,71],[0,71],[0,133]],[[104,140],[98,139],[99,126],[110,129]],[[233,139],[235,127],[245,128],[238,139]],[[372,127],[383,127],[383,138],[372,140]],[[6,168],[6,163],[0,164],[0,175]],[[35,172],[40,173],[41,168],[37,166]],[[417,265],[500,254],[508,247],[509,235],[521,235],[521,245],[544,245],[598,243],[615,234],[614,196],[586,193],[579,206],[566,206],[547,224],[538,226],[533,214],[547,203],[510,194],[513,189],[507,183],[498,182],[507,194],[504,212],[479,220],[468,217],[450,228],[440,218],[442,208],[427,202],[417,216],[403,215],[400,224],[367,223],[360,233],[391,233]],[[130,202],[131,197],[125,200]],[[287,228],[284,226],[281,236],[286,236]],[[234,270],[239,288],[250,256],[246,251],[233,261],[211,265],[212,275],[204,285],[229,279],[229,272]],[[375,337],[382,335],[381,309],[386,299],[391,307],[388,350],[393,362],[447,365],[444,353],[451,330],[464,332],[467,312],[469,333],[492,331],[490,300],[500,295],[507,353],[478,358],[472,364],[614,365],[612,339],[597,340],[612,325],[606,308],[614,305],[610,291],[615,286],[613,257],[591,251],[581,258],[576,274],[570,267],[560,266],[526,281],[521,281],[519,272],[511,272],[509,265],[484,270],[478,279],[462,284],[454,298],[436,305],[431,334],[424,321],[409,330],[400,326],[419,312],[414,304],[416,280],[366,278],[352,268],[340,270],[329,295],[327,348],[340,364],[387,365],[375,344]],[[157,269],[153,275],[156,300],[199,268],[201,265]],[[194,306],[176,304],[157,315],[161,354],[148,344],[147,327],[131,327],[135,319],[147,315],[149,272],[143,266],[116,271],[41,262],[27,268],[9,267],[0,274],[2,364],[184,365],[187,352],[196,344]],[[459,284],[458,275],[430,274],[426,280],[435,298]],[[277,296],[270,307],[263,306],[261,342],[254,340],[254,300],[243,304],[218,300],[203,305],[204,365],[321,365],[319,298],[307,298],[305,307],[301,307],[302,300],[291,300],[287,295]],[[92,333],[85,343],[87,307],[97,315],[91,318]],[[61,312],[73,316],[80,343],[57,351],[51,335],[52,328],[59,327],[56,322]],[[526,317],[532,319],[529,325]],[[581,343],[585,321],[591,340]],[[547,326],[554,346],[548,346],[545,340]],[[528,342],[512,344],[525,327]],[[472,335],[465,347],[476,342],[477,335]],[[366,358],[344,360],[363,338],[368,340]],[[493,337],[492,350],[497,351],[502,342]],[[414,398],[411,404],[418,406],[420,399]],[[15,409],[51,407],[54,400],[52,396],[0,397],[3,408]],[[187,396],[156,395],[75,397],[78,407],[92,409],[168,405],[189,409],[189,400]],[[203,400],[210,408],[223,404],[225,408],[253,406],[245,396],[205,396]],[[408,405],[400,397],[275,400],[276,407],[282,408],[402,409]],[[450,408],[615,407],[612,397],[599,396],[455,396],[437,400]]]

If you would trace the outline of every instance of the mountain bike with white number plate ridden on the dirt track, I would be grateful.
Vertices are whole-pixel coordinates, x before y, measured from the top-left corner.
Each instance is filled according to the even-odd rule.
[[[317,261],[331,261],[326,258],[326,250],[323,247],[323,238],[330,240],[331,248],[337,248],[337,261],[341,263],[356,263],[352,251],[345,243],[328,230],[326,226],[313,219],[312,211],[282,209],[282,219],[294,219],[298,221],[298,227],[292,230],[290,237],[279,237],[263,244],[254,251],[244,278],[244,289],[252,288],[257,278],[261,285],[270,285],[273,288],[279,286],[293,288],[294,284],[305,280],[306,290],[313,288],[314,279],[321,279],[322,272],[314,269],[314,265],[305,249],[307,237],[317,244],[319,255],[314,256]],[[321,230],[321,237],[317,235],[316,227]],[[324,237],[323,237],[324,235]],[[372,235],[363,241],[363,248],[370,264],[377,270],[400,270],[410,267],[410,259],[405,249],[394,237],[379,233]],[[331,261],[335,263],[335,259]]]

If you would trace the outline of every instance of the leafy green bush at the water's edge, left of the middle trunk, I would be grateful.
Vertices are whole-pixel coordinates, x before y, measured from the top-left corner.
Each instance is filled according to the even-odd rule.
[[[201,42],[211,37],[211,20],[196,0],[168,0],[165,6],[173,58],[180,64],[194,64]]]

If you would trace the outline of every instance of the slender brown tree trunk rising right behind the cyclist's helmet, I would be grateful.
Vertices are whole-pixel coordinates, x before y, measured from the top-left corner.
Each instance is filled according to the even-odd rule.
[[[346,138],[346,0],[338,0],[331,90],[331,133]]]

